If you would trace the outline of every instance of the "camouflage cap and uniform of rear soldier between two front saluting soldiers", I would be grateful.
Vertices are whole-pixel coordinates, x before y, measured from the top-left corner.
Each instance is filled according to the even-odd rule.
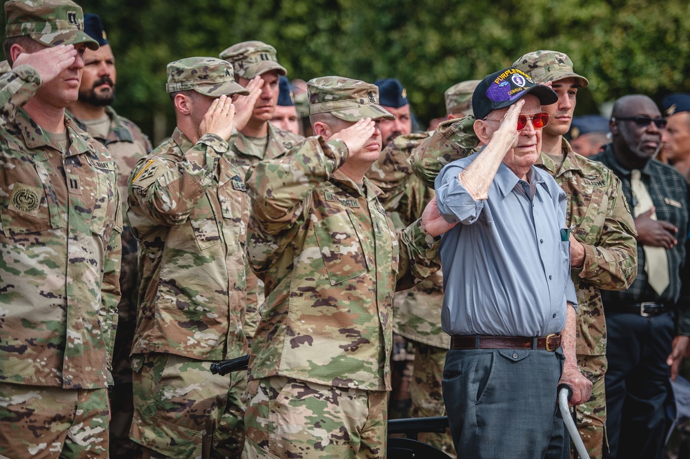
[[[277,70],[279,75],[286,75],[286,70],[278,64],[275,48],[262,41],[243,41],[226,50],[219,57],[233,64],[233,70],[237,77],[252,79],[257,75],[270,70]],[[295,135],[288,130],[276,128],[266,121],[268,125],[268,144],[266,151],[260,151],[245,135],[239,133],[237,139],[228,151],[227,157],[235,166],[248,173],[250,168],[263,159],[273,159],[284,155],[304,137]],[[247,304],[246,322],[244,330],[249,342],[257,328],[259,315],[257,309],[264,302],[264,283],[252,272],[249,265],[246,266],[247,276]]]

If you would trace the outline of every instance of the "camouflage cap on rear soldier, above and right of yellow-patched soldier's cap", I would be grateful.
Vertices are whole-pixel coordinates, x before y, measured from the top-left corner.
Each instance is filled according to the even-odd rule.
[[[220,53],[220,58],[233,64],[235,75],[252,79],[269,70],[277,70],[278,75],[287,75],[285,68],[278,64],[275,48],[263,41],[242,41]]]

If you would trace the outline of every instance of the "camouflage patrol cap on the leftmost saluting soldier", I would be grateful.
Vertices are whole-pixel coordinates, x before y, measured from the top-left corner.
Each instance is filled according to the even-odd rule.
[[[28,35],[45,46],[86,43],[90,50],[99,48],[83,31],[81,7],[70,0],[9,0],[5,18],[5,38]]]

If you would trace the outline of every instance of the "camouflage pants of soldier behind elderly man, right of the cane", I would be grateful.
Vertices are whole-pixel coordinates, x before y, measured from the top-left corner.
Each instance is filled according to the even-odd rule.
[[[578,368],[592,384],[592,396],[587,402],[578,405],[578,432],[591,459],[602,457],[606,438],[606,355],[578,355]],[[571,457],[574,449],[571,448]]]

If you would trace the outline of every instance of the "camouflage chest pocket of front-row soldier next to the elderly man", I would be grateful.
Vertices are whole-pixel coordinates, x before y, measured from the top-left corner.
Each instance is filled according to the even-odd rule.
[[[362,241],[352,222],[350,211],[340,211],[320,220],[315,225],[315,234],[331,285],[368,271]]]

